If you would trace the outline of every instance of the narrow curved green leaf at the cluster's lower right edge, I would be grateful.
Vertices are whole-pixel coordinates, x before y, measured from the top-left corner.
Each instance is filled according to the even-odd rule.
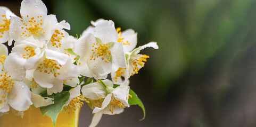
[[[145,116],[146,116],[146,112],[145,112],[145,108],[144,108],[144,105],[143,105],[141,99],[139,99],[138,96],[137,96],[137,94],[135,94],[134,91],[131,90],[131,89],[130,89],[130,91],[129,91],[129,94],[130,94],[131,96],[133,96],[133,97],[131,97],[131,98],[128,99],[129,105],[138,105],[138,106],[140,106],[140,107],[142,108],[142,110],[143,110],[144,116],[143,116],[143,118],[142,118],[141,120],[139,120],[139,121],[144,120],[144,119],[145,119]]]

